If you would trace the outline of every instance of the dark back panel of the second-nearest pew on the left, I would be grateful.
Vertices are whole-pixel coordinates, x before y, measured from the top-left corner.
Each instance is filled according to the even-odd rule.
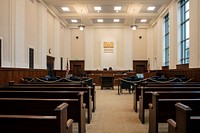
[[[67,101],[65,99],[0,98],[0,114],[56,115],[55,108],[67,104]],[[67,114],[67,110],[64,113]]]

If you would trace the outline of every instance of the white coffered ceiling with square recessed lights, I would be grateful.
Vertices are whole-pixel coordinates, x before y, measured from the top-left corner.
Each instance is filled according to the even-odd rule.
[[[85,26],[130,26],[137,24],[139,28],[147,28],[158,17],[172,0],[43,0],[48,7],[68,27],[77,27],[82,22]],[[101,11],[94,10],[94,6],[101,6]],[[121,6],[121,11],[114,11],[114,6]],[[155,6],[154,11],[147,11],[147,7]],[[61,7],[68,7],[64,12]],[[77,23],[72,23],[76,19]],[[103,19],[104,22],[97,22]],[[114,23],[113,19],[119,19]],[[147,22],[141,23],[141,19]]]

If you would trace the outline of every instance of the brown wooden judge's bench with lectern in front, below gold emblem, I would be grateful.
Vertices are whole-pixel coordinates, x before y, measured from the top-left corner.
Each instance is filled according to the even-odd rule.
[[[118,78],[129,77],[136,74],[135,72],[129,72],[128,70],[86,70],[85,72],[88,77],[93,78],[93,81],[97,86],[102,86],[103,83],[102,87],[111,88],[113,87],[112,83],[113,85],[118,85]]]

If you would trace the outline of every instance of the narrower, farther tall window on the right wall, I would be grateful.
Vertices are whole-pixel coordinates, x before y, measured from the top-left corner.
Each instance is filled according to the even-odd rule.
[[[164,66],[169,66],[169,14],[164,17]]]

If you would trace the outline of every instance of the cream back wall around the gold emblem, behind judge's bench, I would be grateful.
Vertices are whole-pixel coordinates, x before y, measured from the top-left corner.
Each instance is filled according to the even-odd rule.
[[[80,40],[76,39],[76,36],[79,36]],[[147,60],[146,29],[136,31],[132,31],[130,27],[86,27],[84,31],[71,29],[70,40],[70,58],[85,60],[86,70],[102,70],[110,66],[117,70],[132,70],[133,60]],[[114,52],[104,53],[103,42],[114,42]]]

